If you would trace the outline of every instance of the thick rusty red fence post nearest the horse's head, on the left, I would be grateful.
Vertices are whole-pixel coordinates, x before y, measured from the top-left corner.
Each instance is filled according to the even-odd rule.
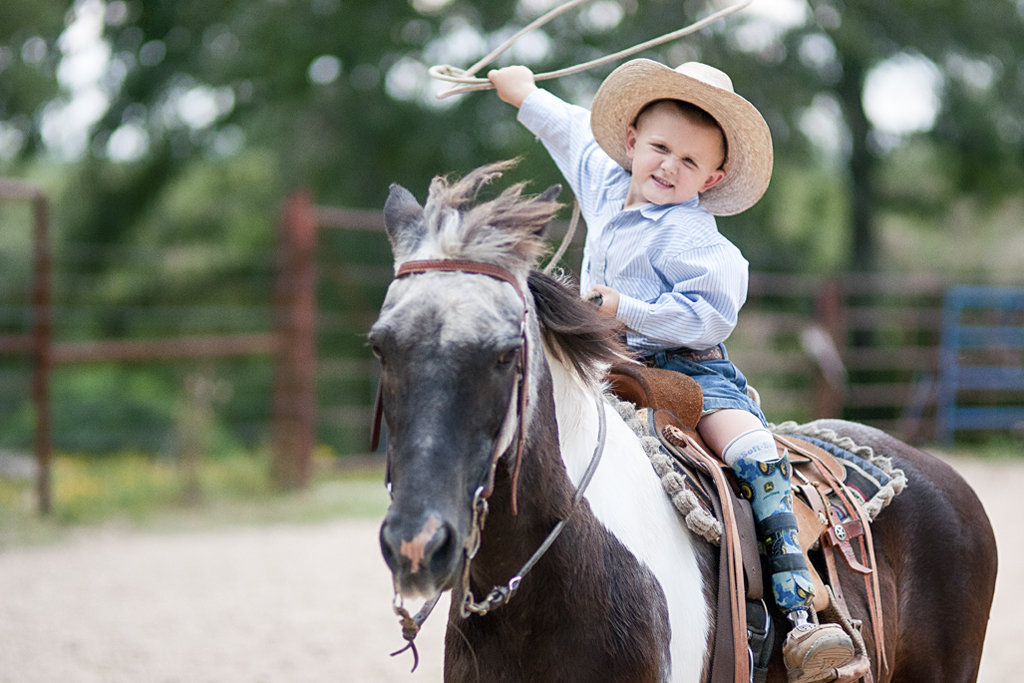
[[[288,198],[278,243],[276,353],[270,476],[282,488],[311,479],[316,434],[316,214],[312,198]]]

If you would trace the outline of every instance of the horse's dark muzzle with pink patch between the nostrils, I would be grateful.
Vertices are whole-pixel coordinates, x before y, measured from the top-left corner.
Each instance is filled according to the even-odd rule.
[[[425,515],[421,524],[388,513],[381,525],[381,551],[402,596],[433,597],[449,587],[461,559],[458,536],[436,513]]]

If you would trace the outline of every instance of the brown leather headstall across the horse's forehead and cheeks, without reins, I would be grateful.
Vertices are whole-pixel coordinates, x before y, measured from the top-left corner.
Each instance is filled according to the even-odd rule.
[[[508,283],[515,290],[516,295],[522,302],[522,321],[520,323],[520,334],[522,335],[522,348],[519,352],[519,358],[516,360],[516,374],[518,375],[517,381],[517,404],[516,413],[518,415],[518,427],[516,428],[516,440],[515,440],[515,464],[512,467],[512,514],[518,514],[519,506],[517,502],[516,492],[519,489],[519,469],[522,465],[522,450],[526,441],[526,408],[528,405],[528,388],[529,388],[529,346],[528,338],[526,335],[526,312],[528,307],[526,305],[526,296],[522,292],[522,288],[519,286],[519,281],[515,279],[511,272],[505,268],[495,265],[494,263],[481,263],[479,261],[463,261],[463,260],[447,260],[447,259],[433,259],[424,261],[406,261],[398,267],[398,271],[395,273],[395,280],[400,278],[406,278],[407,275],[414,275],[423,272],[440,271],[440,272],[467,272],[475,275],[486,275],[488,278],[494,278],[503,283]],[[380,428],[381,428],[381,417],[384,413],[384,400],[383,400],[383,383],[377,383],[377,398],[374,401],[374,424],[373,430],[370,436],[370,450],[377,451],[377,446],[380,443]],[[499,441],[495,446],[495,454],[490,462],[490,476],[488,478],[487,485],[483,493],[483,498],[486,499],[490,496],[495,486],[495,468],[498,465],[498,460],[502,457],[501,442]]]

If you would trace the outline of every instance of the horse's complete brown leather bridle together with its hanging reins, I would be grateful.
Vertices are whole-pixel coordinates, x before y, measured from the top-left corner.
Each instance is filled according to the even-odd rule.
[[[519,469],[522,465],[522,452],[526,440],[526,390],[527,377],[528,377],[528,347],[526,345],[526,297],[522,293],[519,287],[519,283],[516,281],[515,276],[502,268],[501,266],[494,265],[492,263],[481,263],[478,261],[462,261],[462,260],[426,260],[426,261],[407,261],[401,264],[398,268],[398,272],[395,273],[395,279],[404,278],[411,274],[417,274],[422,272],[429,272],[431,270],[439,270],[442,272],[468,272],[471,274],[480,274],[500,280],[502,282],[508,283],[513,287],[516,294],[523,304],[522,313],[522,352],[517,361],[517,373],[519,379],[517,381],[517,391],[518,391],[518,401],[516,405],[516,412],[518,413],[518,427],[516,429],[516,441],[515,441],[515,465],[512,473],[512,514],[518,514],[518,508],[516,503],[516,489],[518,487],[519,481]],[[380,429],[380,419],[383,412],[383,400],[382,392],[378,385],[377,400],[375,404],[375,417],[374,417],[374,433],[372,440],[376,450],[376,443],[379,438]],[[483,598],[480,602],[476,602],[473,599],[473,592],[469,586],[469,573],[470,564],[476,557],[476,553],[480,549],[480,540],[483,535],[483,524],[487,517],[487,498],[494,492],[495,486],[495,468],[498,465],[498,460],[501,458],[501,442],[495,446],[495,456],[492,459],[489,476],[487,484],[478,486],[476,492],[473,494],[472,512],[473,518],[469,538],[463,545],[463,566],[462,566],[462,605],[460,605],[460,613],[463,618],[467,618],[471,613],[483,615],[486,614],[492,609],[496,609],[501,605],[507,603],[515,595],[516,591],[519,589],[519,584],[522,582],[523,577],[534,568],[534,566],[540,561],[541,557],[544,556],[546,552],[554,544],[555,540],[561,535],[562,530],[565,528],[566,523],[572,518],[577,509],[580,507],[580,501],[583,500],[584,494],[587,487],[590,485],[591,479],[594,477],[594,472],[597,471],[597,466],[601,462],[601,456],[604,453],[604,443],[607,433],[606,421],[607,418],[604,414],[604,407],[601,404],[601,398],[597,398],[597,418],[598,418],[598,428],[597,428],[597,445],[594,446],[594,455],[591,456],[590,463],[587,465],[587,470],[584,472],[583,478],[580,480],[580,485],[577,487],[575,495],[572,497],[572,507],[569,510],[568,515],[564,519],[558,521],[554,528],[548,533],[544,542],[538,547],[534,554],[528,560],[519,568],[519,570],[508,581],[505,586],[496,586],[490,592]],[[504,431],[504,430],[502,430]],[[394,601],[392,607],[395,614],[397,614],[401,620],[401,631],[402,637],[407,641],[407,645],[400,650],[391,653],[391,656],[400,654],[408,649],[413,650],[413,671],[416,671],[417,666],[420,663],[420,655],[416,650],[415,639],[423,626],[423,623],[427,621],[430,612],[433,611],[434,606],[440,599],[441,593],[437,593],[434,597],[428,600],[416,613],[412,615],[409,613],[402,604],[401,596],[395,592]]]

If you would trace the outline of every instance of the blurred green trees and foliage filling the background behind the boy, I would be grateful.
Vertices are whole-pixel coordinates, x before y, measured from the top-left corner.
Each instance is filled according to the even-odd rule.
[[[494,93],[438,100],[426,69],[467,67],[552,0],[4,0],[0,176],[53,201],[59,341],[268,330],[284,198],[379,209],[437,173],[521,156],[540,191],[557,170]],[[623,49],[724,6],[593,0],[501,63],[550,71]],[[1024,2],[757,0],[644,54],[714,63],[765,115],[775,173],[722,230],[761,271],[936,271],[1021,284]],[[587,104],[612,67],[548,81]],[[563,200],[568,202],[567,193]],[[28,209],[0,204],[0,334],[31,325]],[[379,236],[326,234],[321,258],[386,262]],[[358,273],[355,270],[349,272]],[[319,440],[360,453],[360,335],[383,283],[321,285]],[[267,439],[267,359],[63,368],[54,440],[66,453],[180,449],[188,378],[224,390],[207,447]],[[29,366],[0,356],[0,449],[32,439]],[[341,398],[339,398],[341,397]],[[201,401],[202,402],[202,401]],[[177,434],[177,436],[176,436]]]

